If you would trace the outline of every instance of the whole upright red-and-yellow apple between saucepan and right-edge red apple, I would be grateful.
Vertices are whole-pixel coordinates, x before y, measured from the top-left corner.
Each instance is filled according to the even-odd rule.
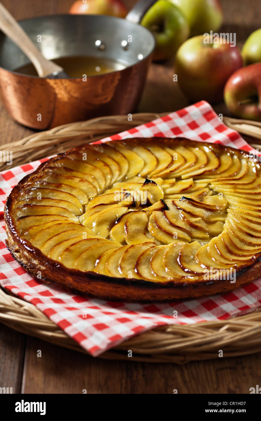
[[[216,37],[211,40],[198,35],[179,47],[175,73],[179,87],[190,101],[205,99],[214,103],[223,99],[227,79],[243,65],[240,50],[232,45]]]

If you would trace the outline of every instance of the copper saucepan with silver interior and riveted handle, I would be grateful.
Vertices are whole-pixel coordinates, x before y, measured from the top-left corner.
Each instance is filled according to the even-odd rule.
[[[15,72],[30,61],[0,32],[0,95],[11,117],[44,130],[100,115],[132,112],[140,101],[155,47],[153,35],[137,23],[154,2],[141,0],[126,19],[68,14],[19,22],[47,59],[92,56],[114,59],[126,66],[84,80],[47,79]],[[39,35],[41,42],[37,42]]]

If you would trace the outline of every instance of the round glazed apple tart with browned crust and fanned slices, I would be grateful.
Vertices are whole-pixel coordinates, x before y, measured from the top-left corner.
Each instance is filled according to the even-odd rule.
[[[5,205],[7,247],[35,277],[106,299],[163,301],[260,276],[261,169],[247,152],[125,139],[42,163]]]

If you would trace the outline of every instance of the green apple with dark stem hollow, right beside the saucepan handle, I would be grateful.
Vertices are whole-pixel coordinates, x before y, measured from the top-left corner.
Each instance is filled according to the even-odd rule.
[[[166,0],[158,0],[142,18],[141,24],[156,38],[153,60],[160,61],[174,56],[179,46],[189,36],[189,26],[179,9]]]

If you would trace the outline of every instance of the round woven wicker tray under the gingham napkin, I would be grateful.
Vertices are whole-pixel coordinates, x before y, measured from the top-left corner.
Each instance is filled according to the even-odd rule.
[[[166,113],[165,113],[166,114]],[[6,151],[13,151],[13,164],[9,168],[63,152],[71,147],[91,143],[137,125],[161,117],[159,114],[134,114],[127,116],[99,117],[71,123],[49,131],[34,133],[20,141],[5,144]],[[250,136],[254,148],[261,147],[261,123],[224,117],[224,123],[240,133]],[[254,137],[254,139],[253,139]],[[0,165],[0,171],[5,164]],[[45,314],[13,294],[0,288],[0,322],[30,336],[41,338],[55,345],[87,352],[58,328]],[[182,364],[193,360],[208,360],[261,352],[261,309],[240,317],[194,325],[166,325],[134,336],[100,358],[126,360],[132,350],[134,361],[175,362]],[[129,358],[128,358],[129,360]]]

